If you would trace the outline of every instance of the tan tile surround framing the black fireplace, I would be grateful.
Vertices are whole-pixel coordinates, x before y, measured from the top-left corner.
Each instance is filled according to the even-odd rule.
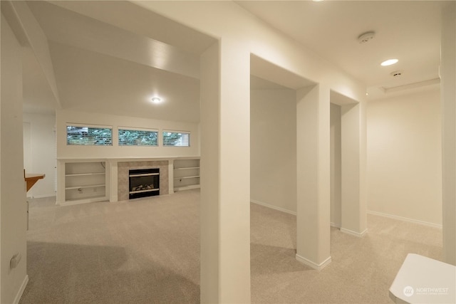
[[[168,161],[140,161],[140,162],[118,162],[118,200],[128,200],[128,175],[130,170],[135,169],[160,169],[160,195],[169,194],[169,172],[168,172]]]

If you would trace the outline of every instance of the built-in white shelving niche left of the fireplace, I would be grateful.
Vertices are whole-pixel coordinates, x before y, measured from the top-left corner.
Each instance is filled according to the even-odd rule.
[[[105,168],[105,162],[66,162],[65,203],[108,199]]]

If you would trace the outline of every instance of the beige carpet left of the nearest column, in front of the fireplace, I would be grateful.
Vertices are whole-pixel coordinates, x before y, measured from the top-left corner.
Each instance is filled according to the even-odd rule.
[[[20,303],[199,302],[198,201],[31,202]]]

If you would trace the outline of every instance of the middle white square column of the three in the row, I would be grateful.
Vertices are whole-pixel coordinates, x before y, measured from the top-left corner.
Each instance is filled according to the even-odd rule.
[[[321,85],[296,93],[296,259],[315,269],[330,255],[330,102]]]

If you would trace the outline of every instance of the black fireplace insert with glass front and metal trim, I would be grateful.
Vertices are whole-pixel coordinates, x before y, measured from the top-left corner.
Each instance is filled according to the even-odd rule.
[[[129,199],[160,194],[160,169],[129,170]]]

